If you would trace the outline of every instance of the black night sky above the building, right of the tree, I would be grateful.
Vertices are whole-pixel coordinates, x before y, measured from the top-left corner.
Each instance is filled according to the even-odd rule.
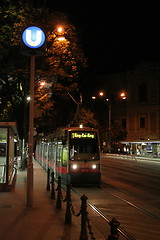
[[[160,60],[158,5],[112,1],[46,1],[68,13],[80,31],[85,55],[97,73],[128,70],[143,61]],[[122,1],[121,1],[122,2]]]

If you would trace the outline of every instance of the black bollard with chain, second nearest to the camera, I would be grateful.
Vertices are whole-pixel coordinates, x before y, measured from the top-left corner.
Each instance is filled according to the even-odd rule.
[[[87,197],[83,195],[81,197],[82,205],[81,205],[81,232],[79,240],[88,240],[87,236]]]

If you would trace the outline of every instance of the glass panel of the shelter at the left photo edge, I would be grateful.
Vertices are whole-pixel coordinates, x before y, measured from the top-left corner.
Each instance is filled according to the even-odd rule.
[[[0,183],[6,182],[7,171],[7,128],[0,128]]]

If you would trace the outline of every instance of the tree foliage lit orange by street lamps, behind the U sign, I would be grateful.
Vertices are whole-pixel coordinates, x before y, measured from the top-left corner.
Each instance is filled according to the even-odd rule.
[[[23,1],[1,0],[0,18],[0,119],[22,122],[24,116],[30,63],[20,46],[22,31],[30,25],[45,29],[47,36],[46,54],[36,58],[35,101],[42,112],[39,120],[45,122],[46,116],[57,120],[60,109],[72,117],[72,108],[62,106],[69,99],[68,92],[77,88],[80,72],[86,66],[75,27],[64,14]],[[57,31],[58,26],[63,32]],[[61,35],[64,41],[58,40]],[[48,88],[39,89],[42,80],[49,84]]]

